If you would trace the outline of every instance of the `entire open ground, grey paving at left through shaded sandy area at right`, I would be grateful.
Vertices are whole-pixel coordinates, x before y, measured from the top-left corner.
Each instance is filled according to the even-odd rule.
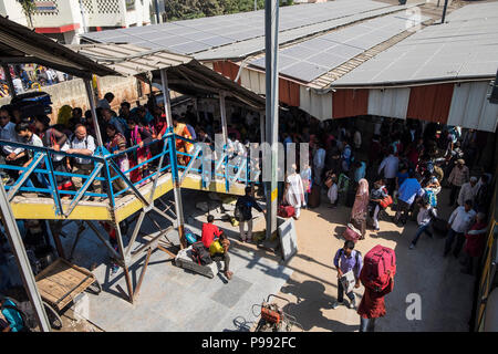
[[[444,218],[452,211],[446,206],[447,195],[448,190],[443,189],[439,196],[439,215]],[[193,231],[198,232],[207,214],[196,209],[195,204],[210,199],[205,192],[187,191],[184,200],[185,218]],[[215,204],[209,201],[211,212]],[[95,236],[86,232],[73,261],[86,268],[95,263],[94,273],[104,291],[97,296],[86,294],[77,304],[80,310],[72,309],[81,315],[73,317],[90,320],[97,326],[95,331],[249,331],[257,321],[252,305],[280,291],[290,304],[277,302],[297,317],[304,331],[357,331],[355,310],[345,306],[332,310],[338,281],[333,256],[343,246],[341,235],[350,210],[343,206],[329,208],[324,195],[319,208],[303,210],[295,222],[299,251],[287,264],[256,244],[239,242],[237,227],[216,220],[232,241],[234,279],[227,282],[221,274],[210,280],[190,273],[173,266],[166,253],[156,251],[134,304],[124,300],[120,290],[126,289],[122,271],[110,274],[106,250]],[[394,215],[391,210],[388,214]],[[215,212],[215,217],[218,219],[219,215]],[[259,216],[255,230],[263,229],[263,221]],[[75,230],[75,225],[70,228]],[[144,228],[149,228],[149,223]],[[387,314],[377,322],[376,331],[468,331],[475,278],[461,274],[460,264],[453,256],[443,258],[445,239],[442,237],[435,235],[429,239],[424,235],[416,249],[408,250],[415,230],[415,221],[408,221],[404,228],[381,221],[378,232],[369,230],[366,239],[357,242],[362,254],[377,243],[396,251],[394,291],[386,296]],[[73,239],[63,239],[68,252]],[[136,283],[139,277],[136,267],[132,277]],[[363,287],[355,290],[357,303],[363,291]],[[421,296],[419,321],[406,319],[406,296],[412,293]],[[255,313],[258,314],[256,306]],[[80,327],[86,331],[89,326],[72,326],[72,330]]]

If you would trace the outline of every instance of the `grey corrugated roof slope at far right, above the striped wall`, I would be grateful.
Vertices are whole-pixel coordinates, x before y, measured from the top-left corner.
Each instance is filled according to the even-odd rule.
[[[498,2],[468,4],[391,46],[332,86],[490,79],[498,63]]]

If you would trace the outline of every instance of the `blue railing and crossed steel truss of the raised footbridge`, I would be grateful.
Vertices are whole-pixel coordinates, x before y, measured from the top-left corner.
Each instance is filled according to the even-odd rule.
[[[176,145],[180,140],[194,144],[194,150],[191,154],[176,149]],[[136,164],[127,170],[120,169],[118,162],[121,158],[134,158],[133,156],[145,152],[151,148],[152,145],[156,145],[155,150],[160,150],[160,153],[155,154],[139,164]],[[6,190],[8,191],[8,201],[12,202],[14,197],[20,192],[34,192],[38,195],[37,198],[53,200],[53,211],[54,216],[58,216],[58,220],[51,222],[51,231],[54,237],[55,244],[58,246],[60,257],[64,258],[64,252],[59,239],[60,235],[64,236],[62,231],[64,226],[73,221],[79,226],[79,231],[69,257],[70,259],[73,256],[81,233],[86,229],[86,227],[92,230],[108,250],[112,258],[123,269],[127,285],[127,298],[132,303],[138,294],[152,252],[159,249],[169,256],[175,257],[175,251],[172,251],[170,248],[177,248],[177,246],[173,244],[173,242],[167,239],[167,233],[173,227],[164,229],[152,217],[152,215],[155,214],[156,216],[168,220],[174,223],[177,229],[183,228],[183,225],[179,225],[181,222],[178,222],[178,219],[183,220],[183,218],[178,218],[178,216],[173,212],[175,209],[173,208],[174,204],[168,206],[167,204],[170,201],[159,199],[160,194],[156,194],[157,188],[163,183],[173,183],[173,186],[181,187],[181,184],[188,175],[197,175],[200,176],[201,186],[206,190],[208,190],[207,188],[212,181],[216,183],[216,179],[225,179],[226,192],[230,192],[230,186],[232,184],[258,184],[259,178],[259,169],[257,168],[259,164],[257,160],[250,160],[250,158],[246,156],[230,157],[229,154],[226,153],[225,146],[224,152],[221,152],[221,154],[218,153],[219,159],[214,162],[211,159],[212,152],[210,147],[187,139],[183,136],[175,135],[172,128],[168,128],[167,133],[160,140],[153,140],[143,147],[137,145],[122,152],[113,152],[113,154],[103,147],[97,147],[97,150],[93,156],[66,154],[64,152],[56,152],[46,147],[38,147],[0,139],[0,148],[2,146],[19,147],[24,149],[24,153],[29,156],[32,156],[32,160],[27,167],[0,165],[0,169],[7,173],[10,171],[11,176],[13,175],[13,171],[15,175],[19,175],[13,184],[6,186]],[[58,156],[59,158],[56,158]],[[53,167],[53,160],[54,158],[60,159],[60,156],[63,158],[81,157],[91,159],[94,168],[90,175],[55,170]],[[179,156],[187,156],[189,159],[188,164],[185,166],[180,165],[178,159]],[[143,174],[144,170],[148,170],[148,175]],[[251,170],[255,173],[251,174]],[[170,179],[166,178],[159,183],[160,177],[169,174],[172,177]],[[134,175],[135,178],[131,178],[132,175]],[[253,180],[251,180],[251,175],[253,176]],[[84,183],[79,190],[63,190],[58,188],[58,178],[60,177],[79,177],[82,178]],[[118,183],[120,179],[122,183]],[[101,186],[103,186],[103,192],[95,192],[92,188],[94,183],[97,180]],[[126,199],[126,195],[133,195],[133,197],[141,201],[142,207],[132,216],[125,218],[124,220],[120,220],[116,215],[116,209],[123,206],[125,202],[123,199]],[[82,221],[68,219],[77,206],[81,206],[90,198],[93,198],[93,201],[98,201],[98,205],[106,205],[108,208],[111,220],[105,221],[107,223],[106,232],[103,232],[102,228],[98,228],[98,226],[91,220]],[[165,209],[162,209],[159,206]],[[168,212],[173,214],[173,217],[168,215]],[[180,209],[179,212],[183,214],[183,210]],[[141,232],[141,228],[145,219],[152,221],[151,225],[157,229],[156,232],[153,232],[152,235],[143,235],[144,232]],[[124,223],[128,225],[136,221],[133,230],[131,230],[128,242],[126,243],[126,233],[129,232],[127,232],[127,227],[124,228],[122,226],[122,221],[125,221]],[[110,236],[106,235],[112,230],[115,231],[117,241],[116,248],[111,244]],[[180,232],[178,233],[181,235]],[[139,237],[142,237],[142,242],[138,241]],[[181,238],[183,237],[180,236],[180,248],[185,244],[185,240],[181,240]],[[159,243],[159,240],[163,240],[163,243]],[[167,247],[165,247],[165,244]],[[145,260],[138,282],[135,289],[133,289],[128,270],[133,264],[141,262],[144,257]]]

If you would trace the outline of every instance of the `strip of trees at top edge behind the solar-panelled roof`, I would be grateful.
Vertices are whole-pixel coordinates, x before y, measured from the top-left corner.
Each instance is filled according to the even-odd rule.
[[[258,10],[264,9],[264,0],[256,0]],[[280,6],[292,4],[292,0],[279,0]],[[167,21],[187,20],[217,14],[255,10],[255,0],[168,0],[165,1]]]

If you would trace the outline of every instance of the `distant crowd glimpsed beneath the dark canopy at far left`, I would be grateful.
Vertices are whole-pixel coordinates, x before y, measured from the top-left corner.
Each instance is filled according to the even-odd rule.
[[[9,65],[12,85],[15,94],[22,94],[29,90],[37,90],[42,86],[50,86],[71,79],[70,75],[39,64],[17,64]],[[0,97],[10,95],[7,76],[0,67]]]

